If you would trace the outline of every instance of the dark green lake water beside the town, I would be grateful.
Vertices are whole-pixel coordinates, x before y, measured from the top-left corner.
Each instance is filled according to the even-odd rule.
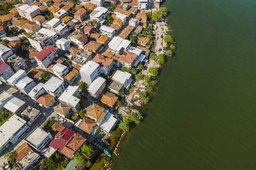
[[[114,169],[256,169],[256,1],[163,6],[176,55]]]

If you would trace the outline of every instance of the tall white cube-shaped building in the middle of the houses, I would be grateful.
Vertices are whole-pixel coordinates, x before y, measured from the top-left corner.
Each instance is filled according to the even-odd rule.
[[[82,81],[87,84],[92,84],[93,80],[100,75],[100,66],[98,63],[88,61],[80,69]]]

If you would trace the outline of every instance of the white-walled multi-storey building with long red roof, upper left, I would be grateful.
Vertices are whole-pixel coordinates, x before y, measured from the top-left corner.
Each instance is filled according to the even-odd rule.
[[[40,67],[47,68],[58,56],[57,50],[52,46],[47,46],[35,55],[35,61]]]

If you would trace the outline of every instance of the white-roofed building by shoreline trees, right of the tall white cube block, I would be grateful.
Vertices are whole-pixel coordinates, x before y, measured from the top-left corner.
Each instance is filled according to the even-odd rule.
[[[123,84],[125,89],[129,89],[132,82],[132,74],[117,70],[117,72],[113,75],[112,80]]]

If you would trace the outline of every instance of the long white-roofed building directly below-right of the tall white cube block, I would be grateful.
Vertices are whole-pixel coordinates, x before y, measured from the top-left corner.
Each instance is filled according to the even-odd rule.
[[[102,77],[98,77],[93,80],[92,84],[88,87],[88,92],[94,98],[98,99],[99,96],[103,93],[103,90],[106,87],[106,80]]]

